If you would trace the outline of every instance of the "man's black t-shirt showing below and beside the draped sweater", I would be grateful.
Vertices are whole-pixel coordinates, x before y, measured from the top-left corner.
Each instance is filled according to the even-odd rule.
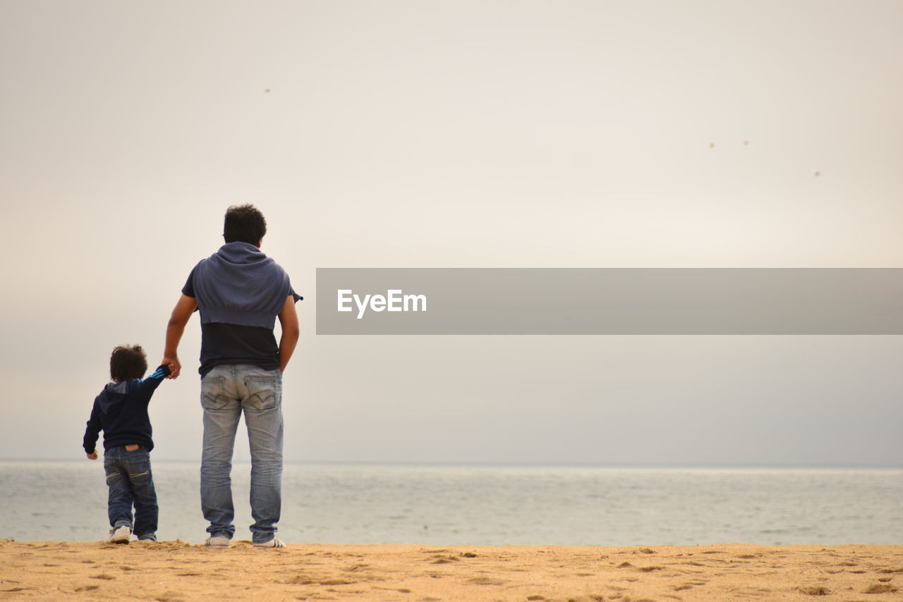
[[[182,294],[194,297],[194,270],[182,287]],[[210,322],[200,325],[200,375],[220,364],[251,364],[265,370],[279,367],[279,346],[273,330]]]

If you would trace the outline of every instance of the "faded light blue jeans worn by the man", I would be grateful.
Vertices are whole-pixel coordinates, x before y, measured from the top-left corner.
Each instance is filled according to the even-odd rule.
[[[275,537],[282,511],[282,372],[249,364],[214,366],[200,379],[204,408],[204,450],[200,461],[200,506],[207,533],[235,534],[232,505],[232,449],[242,412],[251,447],[251,537]]]

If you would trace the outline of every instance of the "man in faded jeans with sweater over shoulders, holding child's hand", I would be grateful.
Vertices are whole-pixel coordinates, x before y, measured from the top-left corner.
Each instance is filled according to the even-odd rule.
[[[166,327],[161,364],[175,378],[182,369],[182,332],[200,310],[200,505],[210,523],[210,548],[228,548],[235,534],[229,473],[242,412],[251,448],[252,540],[258,548],[284,547],[275,538],[282,508],[282,375],[300,334],[294,304],[301,297],[282,267],[260,251],[265,234],[264,216],[253,205],[228,208],[226,244],[191,270]]]

